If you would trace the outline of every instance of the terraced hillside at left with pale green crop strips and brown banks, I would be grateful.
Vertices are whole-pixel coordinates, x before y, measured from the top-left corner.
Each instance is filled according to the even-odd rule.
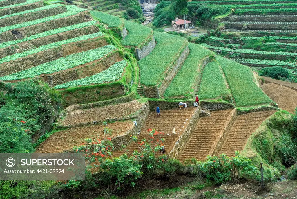
[[[61,92],[64,106],[129,92],[132,66],[88,10],[55,1],[9,2],[0,7],[1,80],[39,78]]]

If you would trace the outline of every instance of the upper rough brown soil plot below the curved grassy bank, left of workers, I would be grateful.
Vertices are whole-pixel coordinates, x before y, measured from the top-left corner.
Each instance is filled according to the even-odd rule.
[[[67,115],[65,119],[61,121],[61,123],[63,125],[68,125],[80,122],[91,122],[94,120],[105,120],[106,118],[128,117],[129,115],[138,111],[141,106],[141,103],[134,100],[127,103],[92,109],[78,109]]]

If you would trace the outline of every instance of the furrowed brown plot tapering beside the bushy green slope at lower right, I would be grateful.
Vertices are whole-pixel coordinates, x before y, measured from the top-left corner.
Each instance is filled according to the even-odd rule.
[[[276,111],[259,111],[238,115],[219,154],[225,153],[227,156],[234,156],[235,151],[241,151],[249,136],[274,112]]]

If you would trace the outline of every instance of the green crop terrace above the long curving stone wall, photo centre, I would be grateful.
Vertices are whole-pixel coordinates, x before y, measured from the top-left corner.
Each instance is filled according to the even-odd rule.
[[[154,32],[157,45],[154,50],[138,62],[140,83],[155,86],[164,78],[164,72],[178,59],[188,45],[184,37]]]

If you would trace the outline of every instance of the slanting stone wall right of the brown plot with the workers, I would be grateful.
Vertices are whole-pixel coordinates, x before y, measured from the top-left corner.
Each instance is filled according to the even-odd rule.
[[[194,115],[191,117],[189,124],[187,125],[185,131],[179,136],[178,140],[175,142],[173,148],[168,153],[168,158],[174,158],[178,159],[178,157],[181,155],[181,152],[183,151],[184,147],[187,145],[189,138],[192,135],[192,132],[195,130],[196,125],[199,120],[199,113],[200,108],[197,108],[195,110]]]

